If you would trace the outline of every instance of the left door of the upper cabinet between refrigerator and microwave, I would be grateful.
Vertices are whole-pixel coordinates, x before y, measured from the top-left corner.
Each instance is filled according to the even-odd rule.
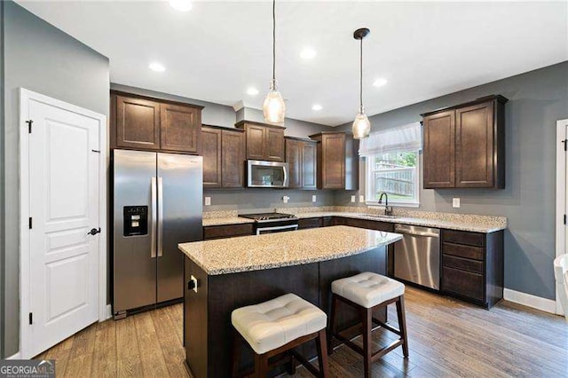
[[[201,129],[203,145],[203,187],[221,187],[221,130]]]

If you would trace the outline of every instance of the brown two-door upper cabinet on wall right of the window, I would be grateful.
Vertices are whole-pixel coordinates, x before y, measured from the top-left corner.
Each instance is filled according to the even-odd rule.
[[[422,114],[425,189],[505,187],[507,101],[488,96]]]

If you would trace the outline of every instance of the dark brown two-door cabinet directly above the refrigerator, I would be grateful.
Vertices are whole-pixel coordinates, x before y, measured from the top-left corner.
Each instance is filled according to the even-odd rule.
[[[201,109],[111,91],[110,147],[201,154]]]

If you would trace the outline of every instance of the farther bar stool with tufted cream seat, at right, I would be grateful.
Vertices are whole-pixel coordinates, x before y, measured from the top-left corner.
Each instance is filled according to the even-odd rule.
[[[333,352],[333,338],[345,343],[352,350],[363,356],[365,365],[365,376],[371,374],[371,364],[378,358],[383,357],[402,345],[405,358],[408,357],[408,340],[406,338],[406,318],[405,318],[405,286],[397,280],[372,272],[363,272],[355,276],[341,280],[335,280],[331,283],[332,302],[331,302],[331,319],[330,319],[330,335],[329,335],[329,354]],[[345,329],[335,331],[335,311],[337,311],[338,302],[342,302],[357,309],[360,313],[361,323],[363,326],[363,348],[352,343],[351,340],[341,335]],[[387,306],[390,303],[397,304],[398,327],[390,327],[382,321],[373,318],[373,311]],[[400,336],[398,340],[381,350],[373,353],[371,344],[371,333],[373,331],[373,323],[388,329]],[[352,327],[350,327],[352,328]],[[349,329],[349,328],[348,328]]]

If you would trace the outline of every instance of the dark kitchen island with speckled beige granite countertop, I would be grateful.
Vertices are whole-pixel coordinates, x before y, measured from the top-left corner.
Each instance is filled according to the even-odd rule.
[[[390,232],[331,226],[180,244],[185,254],[184,346],[193,376],[229,376],[231,311],[294,293],[329,313],[331,282],[386,273]],[[356,322],[340,313],[340,327]],[[377,311],[386,320],[386,311]],[[304,353],[315,355],[311,348]],[[251,355],[241,360],[246,365]],[[246,358],[248,357],[248,358]]]

